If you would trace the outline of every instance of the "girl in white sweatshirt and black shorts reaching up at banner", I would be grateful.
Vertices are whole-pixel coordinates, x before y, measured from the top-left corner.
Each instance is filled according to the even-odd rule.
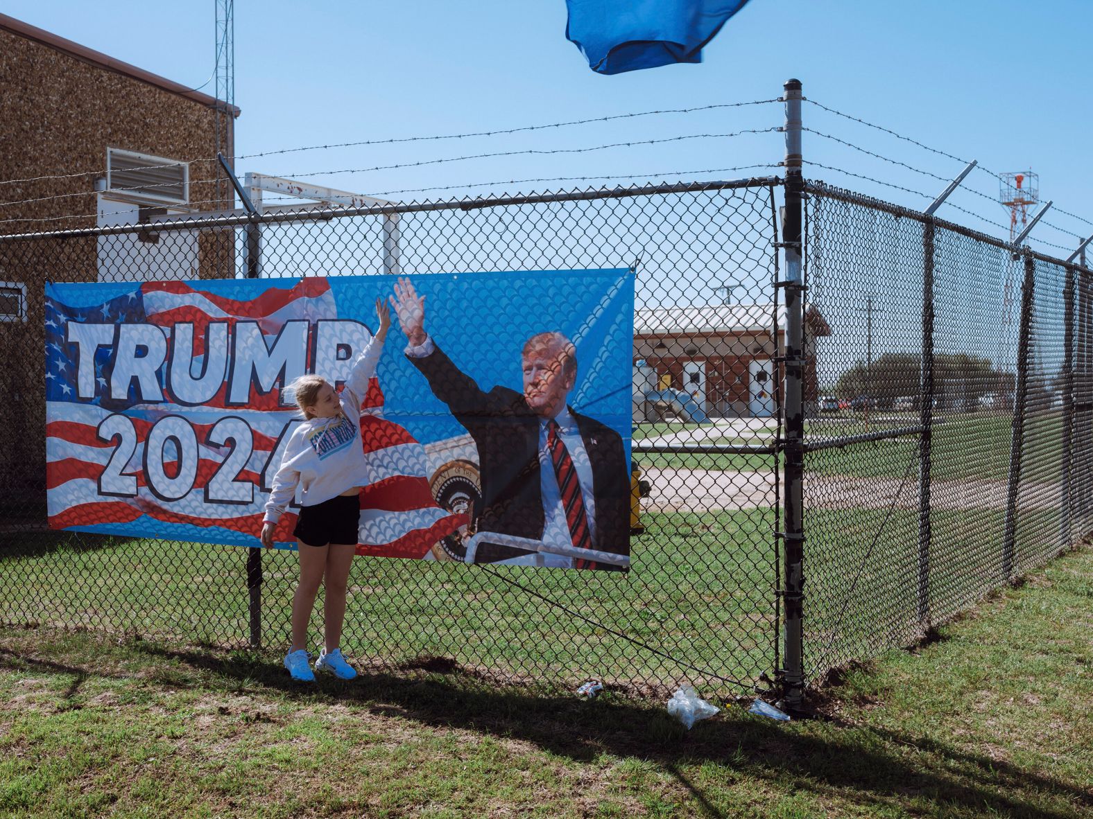
[[[289,384],[304,423],[290,436],[281,467],[273,478],[261,541],[266,548],[273,546],[277,522],[299,484],[302,508],[292,533],[299,551],[299,585],[292,598],[292,648],[284,657],[285,667],[296,680],[315,679],[305,645],[320,583],[326,585],[326,644],[315,667],[341,679],[356,676],[338,644],[345,616],[345,581],[357,542],[359,495],[361,487],[369,482],[361,447],[361,402],[391,325],[390,310],[381,299],[376,299],[376,314],[379,331],[353,361],[340,399],[320,376],[301,376]]]

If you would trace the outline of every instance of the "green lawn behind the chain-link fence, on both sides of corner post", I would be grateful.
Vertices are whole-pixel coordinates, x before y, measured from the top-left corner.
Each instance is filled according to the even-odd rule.
[[[806,512],[806,660],[832,667],[918,639],[917,508]],[[917,482],[903,487],[914,500]],[[822,500],[819,499],[819,500]],[[498,680],[568,686],[598,677],[620,690],[690,678],[738,691],[776,667],[780,525],[771,509],[647,514],[628,575],[357,558],[343,645],[369,667],[458,665]],[[1024,512],[1018,573],[1063,544],[1057,511]],[[935,509],[929,620],[948,619],[1004,583],[1002,509]],[[289,633],[293,553],[263,553],[263,644]],[[246,648],[247,550],[56,533],[0,557],[0,622]],[[317,644],[320,603],[312,624]],[[667,656],[666,656],[667,655]],[[718,679],[724,678],[724,679]]]

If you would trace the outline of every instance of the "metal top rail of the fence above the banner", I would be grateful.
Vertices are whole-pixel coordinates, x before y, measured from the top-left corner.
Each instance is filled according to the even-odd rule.
[[[421,213],[426,211],[472,211],[484,207],[505,207],[522,204],[543,204],[549,202],[584,202],[598,199],[627,199],[633,197],[665,195],[670,193],[698,193],[703,191],[731,190],[736,188],[773,188],[781,185],[776,176],[749,177],[745,179],[728,179],[706,182],[677,182],[662,185],[640,185],[618,188],[598,188],[590,190],[572,190],[556,193],[529,193],[516,197],[479,197],[435,202],[404,202],[386,205],[364,205],[361,207],[321,207],[301,206],[299,210],[282,210],[277,213],[238,214],[201,218],[200,212],[192,216],[180,216],[177,219],[155,222],[154,224],[136,223],[128,225],[108,225],[104,227],[72,228],[68,230],[46,230],[40,233],[0,235],[0,242],[33,240],[33,239],[69,239],[90,236],[119,236],[124,234],[155,230],[195,230],[202,228],[225,228],[242,225],[269,225],[280,222],[329,221],[351,216],[390,216],[401,213]]]

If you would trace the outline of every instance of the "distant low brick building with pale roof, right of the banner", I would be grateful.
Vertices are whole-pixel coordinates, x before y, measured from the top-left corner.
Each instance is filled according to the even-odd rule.
[[[710,417],[768,416],[784,372],[775,359],[785,355],[785,312],[769,304],[638,309],[634,360],[656,371],[658,387],[691,393]],[[815,308],[804,320],[809,340],[831,335]],[[819,397],[814,349],[806,349],[806,402]]]

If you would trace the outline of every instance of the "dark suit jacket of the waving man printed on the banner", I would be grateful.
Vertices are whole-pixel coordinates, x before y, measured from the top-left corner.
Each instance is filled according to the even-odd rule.
[[[423,357],[408,356],[428,380],[433,394],[471,434],[479,452],[482,498],[474,506],[477,530],[541,539],[544,515],[539,474],[539,416],[522,393],[506,387],[483,392],[436,347]],[[622,438],[587,415],[573,414],[592,467],[596,548],[630,554],[630,470]],[[524,549],[483,541],[475,562],[493,562]],[[603,563],[598,568],[608,567]]]

